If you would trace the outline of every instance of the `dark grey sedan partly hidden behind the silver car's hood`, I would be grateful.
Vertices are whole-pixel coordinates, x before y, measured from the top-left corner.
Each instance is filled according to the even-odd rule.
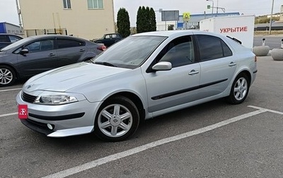
[[[105,48],[103,44],[65,35],[24,38],[0,50],[0,86],[12,85],[17,78],[88,61]]]

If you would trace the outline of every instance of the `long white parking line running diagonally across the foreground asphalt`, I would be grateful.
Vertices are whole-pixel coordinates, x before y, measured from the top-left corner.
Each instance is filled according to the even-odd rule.
[[[114,155],[108,155],[104,158],[100,158],[98,160],[93,160],[91,162],[87,162],[83,165],[79,165],[79,166],[76,166],[76,167],[71,167],[67,170],[62,170],[60,172],[50,174],[50,175],[47,175],[46,177],[42,177],[42,178],[67,177],[67,176],[70,176],[70,175],[73,175],[73,174],[76,174],[76,173],[79,173],[79,172],[83,172],[85,170],[89,170],[91,168],[98,167],[98,166],[103,165],[103,164],[108,163],[108,162],[112,162],[112,161],[115,161],[115,160],[119,160],[121,158],[125,158],[129,155],[134,155],[136,153],[140,153],[144,150],[149,150],[150,148],[154,148],[156,146],[161,146],[161,145],[166,144],[166,143],[171,143],[173,141],[179,141],[180,139],[183,139],[183,138],[188,138],[190,136],[195,136],[195,135],[198,135],[200,133],[212,131],[212,130],[217,129],[221,126],[226,126],[226,125],[231,124],[233,122],[240,121],[240,120],[246,119],[248,117],[253,117],[255,115],[258,115],[258,114],[261,114],[261,113],[267,112],[267,111],[270,111],[270,110],[264,109],[264,108],[258,108],[258,110],[255,110],[254,112],[242,114],[241,116],[233,117],[233,118],[225,120],[225,121],[220,121],[219,123],[212,124],[210,126],[206,126],[204,128],[197,129],[197,130],[194,130],[194,131],[188,131],[186,133],[182,133],[182,134],[177,135],[177,136],[171,136],[171,137],[168,137],[168,138],[163,138],[159,141],[154,141],[154,142],[151,142],[151,143],[147,143],[143,146],[138,146],[136,148],[125,150],[125,151],[122,151],[120,153],[115,153]]]

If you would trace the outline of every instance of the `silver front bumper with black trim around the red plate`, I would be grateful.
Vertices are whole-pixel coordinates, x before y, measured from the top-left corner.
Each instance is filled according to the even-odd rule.
[[[28,119],[21,119],[28,128],[50,137],[75,136],[93,131],[100,102],[81,100],[66,105],[37,105],[23,101],[21,92],[16,96],[16,102],[18,105],[28,105]],[[52,129],[47,124],[52,125]]]

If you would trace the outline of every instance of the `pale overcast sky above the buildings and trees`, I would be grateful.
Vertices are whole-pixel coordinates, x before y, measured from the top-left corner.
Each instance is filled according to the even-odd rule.
[[[60,1],[60,0],[58,0]],[[105,0],[110,1],[110,0]],[[274,13],[280,12],[280,7],[283,5],[283,0],[274,1]],[[149,6],[156,11],[157,23],[161,21],[161,13],[163,11],[179,11],[183,13],[200,14],[212,13],[212,8],[207,9],[207,5],[219,8],[225,8],[226,12],[239,12],[243,15],[270,15],[272,9],[272,0],[114,0],[115,21],[117,19],[117,11],[120,8],[125,8],[129,13],[131,26],[136,26],[137,10],[139,6]],[[222,11],[219,9],[219,13]],[[216,9],[214,8],[214,13]],[[0,0],[0,22],[7,22],[18,25],[18,14],[16,10],[16,0]]]

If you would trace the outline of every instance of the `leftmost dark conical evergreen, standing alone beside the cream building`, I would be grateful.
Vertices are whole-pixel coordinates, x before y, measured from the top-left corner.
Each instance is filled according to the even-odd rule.
[[[129,30],[129,13],[125,8],[120,8],[117,13],[117,32],[122,35],[122,37],[128,37],[131,34]]]

